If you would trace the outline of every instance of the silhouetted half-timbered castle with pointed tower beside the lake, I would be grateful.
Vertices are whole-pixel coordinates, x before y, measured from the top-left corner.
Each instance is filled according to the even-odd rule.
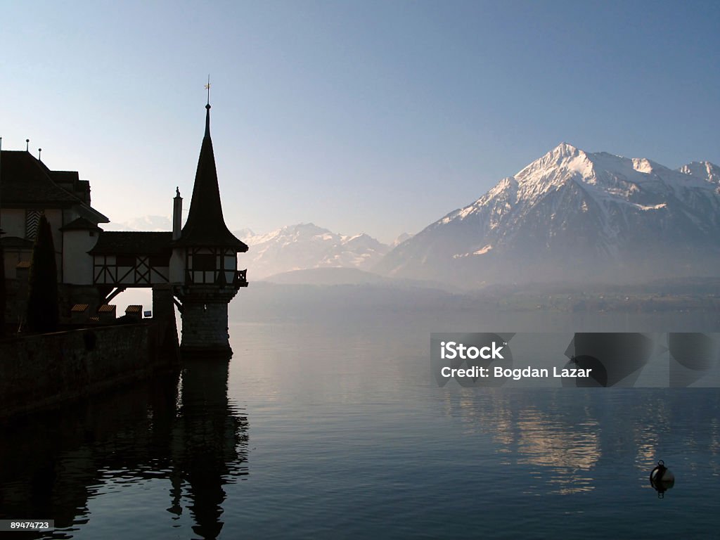
[[[129,287],[153,289],[158,315],[182,318],[182,354],[231,353],[228,303],[247,287],[237,255],[248,251],[222,217],[210,103],[192,200],[181,227],[182,198],[176,189],[171,232],[104,231],[109,222],[91,206],[90,184],[76,171],[52,171],[25,151],[0,151],[0,230],[9,285],[6,320],[22,318],[27,269],[37,223],[44,214],[55,245],[61,320],[73,310],[102,311]],[[114,311],[113,311],[114,313]]]

